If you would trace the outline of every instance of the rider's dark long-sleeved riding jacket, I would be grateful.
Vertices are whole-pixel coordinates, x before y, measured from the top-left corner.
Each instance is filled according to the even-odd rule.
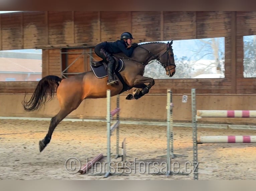
[[[127,45],[124,41],[117,40],[115,42],[104,42],[104,48],[110,54],[117,54],[123,52],[127,57],[131,57],[134,47],[127,49]]]

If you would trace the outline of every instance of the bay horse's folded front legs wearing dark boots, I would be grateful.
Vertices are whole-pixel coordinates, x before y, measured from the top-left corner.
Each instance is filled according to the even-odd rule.
[[[149,84],[145,85],[144,83],[149,83]],[[133,95],[132,94],[127,95],[126,99],[133,99],[133,98],[139,99],[143,95],[147,94],[150,88],[154,86],[154,84],[155,84],[155,81],[153,78],[148,78],[148,77],[138,75],[134,81],[133,87],[141,88],[142,90],[139,91],[138,89],[136,89],[133,92]]]

